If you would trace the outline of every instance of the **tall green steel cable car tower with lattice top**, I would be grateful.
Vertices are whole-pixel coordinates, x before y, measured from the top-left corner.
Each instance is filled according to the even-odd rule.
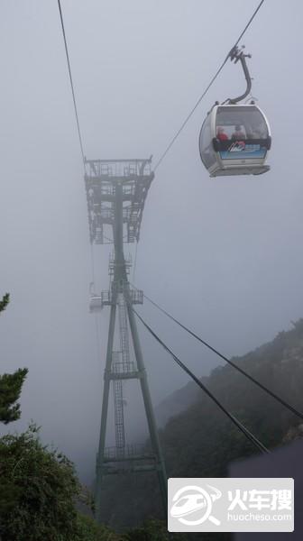
[[[154,173],[152,158],[144,160],[86,160],[85,183],[90,243],[103,244],[113,238],[114,256],[109,261],[110,289],[97,295],[91,291],[90,310],[110,307],[106,369],[99,448],[96,458],[96,520],[102,521],[103,483],[109,475],[150,472],[158,475],[164,512],[167,505],[167,476],[161,453],[152,400],[143,362],[133,305],[142,304],[143,294],[128,280],[131,261],[124,257],[124,243],[139,241],[142,212]],[[118,348],[115,336],[119,335]],[[133,355],[130,354],[132,344]],[[152,451],[126,442],[124,427],[124,382],[139,380]],[[111,385],[112,383],[112,385]],[[114,393],[115,447],[106,447],[110,389]],[[117,496],[118,497],[118,496]]]

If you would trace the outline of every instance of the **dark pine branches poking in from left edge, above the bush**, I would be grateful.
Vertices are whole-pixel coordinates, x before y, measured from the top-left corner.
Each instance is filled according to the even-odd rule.
[[[9,303],[9,293],[0,300],[0,312],[3,312]],[[11,423],[21,415],[19,399],[23,382],[27,375],[27,368],[19,368],[13,374],[0,375],[0,422]]]

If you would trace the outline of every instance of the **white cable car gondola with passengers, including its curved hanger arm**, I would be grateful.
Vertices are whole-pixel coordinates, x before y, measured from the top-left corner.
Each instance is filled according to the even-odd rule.
[[[265,164],[271,148],[271,131],[260,107],[251,102],[239,104],[251,91],[243,50],[231,50],[231,60],[240,60],[247,82],[242,96],[212,107],[199,136],[201,160],[210,177],[226,175],[260,175],[270,170]]]

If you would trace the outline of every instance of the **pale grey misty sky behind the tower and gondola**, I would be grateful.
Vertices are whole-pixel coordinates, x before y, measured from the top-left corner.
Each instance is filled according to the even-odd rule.
[[[258,2],[62,0],[87,158],[161,157]],[[0,6],[1,371],[29,368],[23,416],[45,441],[95,467],[109,310],[88,313],[87,201],[55,0]],[[209,179],[200,126],[245,87],[228,62],[156,171],[133,280],[227,355],[303,316],[300,56],[303,5],[266,0],[243,43],[253,97],[268,116],[271,171]],[[94,247],[107,289],[108,246]],[[125,245],[125,253],[134,246]],[[216,359],[147,302],[142,315],[197,374]],[[138,324],[152,399],[188,377]],[[3,428],[4,430],[4,428]]]

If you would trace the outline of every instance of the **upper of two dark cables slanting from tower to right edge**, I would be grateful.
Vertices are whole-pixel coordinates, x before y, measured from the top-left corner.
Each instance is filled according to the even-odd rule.
[[[133,284],[132,284],[133,286]],[[133,288],[135,288],[135,286],[133,286]],[[137,288],[135,288],[137,289]],[[303,419],[303,413],[301,413],[300,411],[298,411],[297,408],[294,408],[293,406],[291,406],[289,404],[289,402],[287,402],[286,400],[284,399],[281,399],[279,395],[277,395],[275,392],[273,392],[273,390],[270,390],[268,389],[268,387],[266,387],[265,385],[263,385],[260,381],[257,381],[253,378],[253,376],[251,376],[249,373],[247,373],[246,371],[243,370],[243,368],[241,368],[240,366],[238,366],[237,364],[235,364],[233,361],[231,361],[230,359],[228,359],[228,357],[225,357],[225,355],[223,353],[220,353],[218,350],[216,350],[215,347],[213,347],[212,345],[208,344],[205,340],[203,340],[203,338],[201,338],[200,336],[196,335],[196,333],[194,333],[193,331],[191,331],[187,326],[183,325],[178,319],[176,319],[176,317],[174,316],[171,316],[171,314],[169,312],[167,312],[166,310],[164,310],[164,308],[162,308],[159,304],[157,304],[156,302],[154,302],[152,300],[152,298],[150,297],[147,297],[147,295],[143,294],[143,297],[144,298],[147,298],[147,300],[149,302],[152,303],[152,305],[154,307],[157,307],[163,314],[165,314],[165,316],[168,316],[170,317],[170,319],[172,321],[174,321],[175,323],[177,323],[177,325],[179,325],[182,329],[184,329],[185,331],[187,331],[187,333],[191,336],[193,336],[194,338],[196,338],[198,340],[198,342],[200,342],[201,344],[205,345],[210,351],[212,351],[213,353],[216,353],[216,355],[218,355],[218,357],[220,357],[221,359],[223,359],[225,362],[227,362],[228,364],[230,364],[231,366],[233,366],[233,368],[237,371],[239,371],[240,373],[243,374],[243,376],[245,376],[245,378],[247,378],[248,380],[250,381],[253,381],[253,383],[255,385],[257,385],[258,387],[260,387],[260,389],[264,390],[264,392],[266,392],[268,395],[271,396],[271,398],[277,400],[278,402],[280,402],[280,404],[282,404],[282,406],[284,406],[285,408],[288,408],[289,411],[291,411],[292,413],[294,413],[295,415],[297,415],[298,417],[300,417],[301,419]]]

